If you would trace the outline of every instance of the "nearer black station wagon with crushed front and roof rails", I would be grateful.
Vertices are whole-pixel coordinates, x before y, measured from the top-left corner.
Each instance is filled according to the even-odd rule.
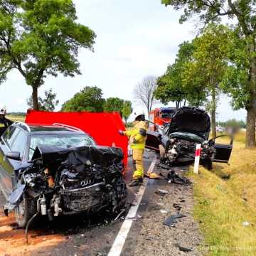
[[[127,200],[122,149],[97,146],[75,127],[31,126],[16,122],[0,139],[0,188],[5,213],[15,211],[25,227],[34,215],[108,210]]]

